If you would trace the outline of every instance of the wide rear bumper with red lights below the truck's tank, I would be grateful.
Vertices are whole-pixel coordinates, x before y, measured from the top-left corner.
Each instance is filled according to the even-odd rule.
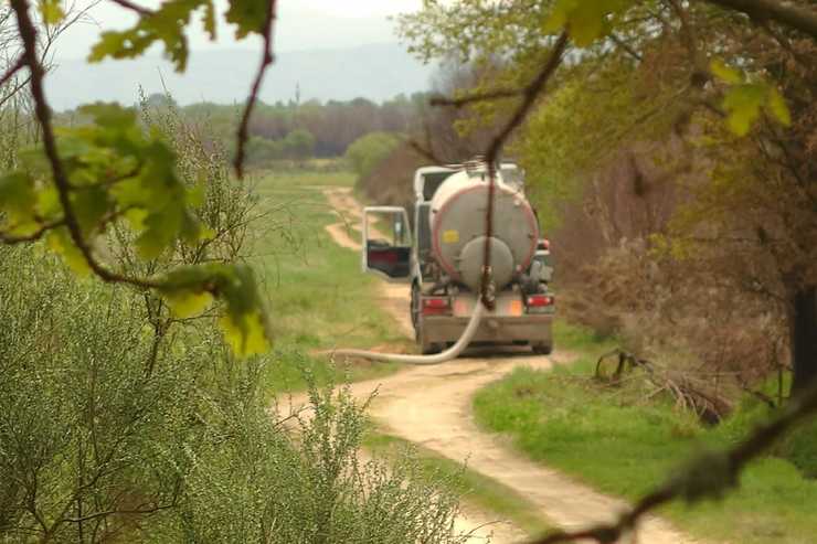
[[[449,316],[423,317],[423,337],[426,343],[456,342],[468,326],[469,318]],[[474,342],[510,343],[528,341],[551,345],[553,314],[519,317],[485,316],[474,337]]]

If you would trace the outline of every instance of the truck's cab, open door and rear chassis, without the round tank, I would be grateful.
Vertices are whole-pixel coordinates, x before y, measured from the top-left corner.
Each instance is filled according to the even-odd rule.
[[[369,206],[363,213],[363,271],[411,286],[408,311],[423,353],[435,353],[456,342],[478,303],[474,282],[469,287],[452,274],[456,270],[450,266],[446,269],[432,232],[432,216],[438,212],[432,207],[435,195],[446,181],[464,171],[475,183],[480,182],[478,177],[485,181],[485,166],[475,162],[418,169],[411,220],[400,206]],[[517,164],[502,162],[497,174],[503,188],[523,195],[523,172]],[[517,267],[512,280],[497,290],[496,308],[486,312],[475,342],[524,344],[537,353],[552,350],[555,297],[549,287],[553,273],[550,247],[544,238],[534,241],[534,246],[524,269]]]

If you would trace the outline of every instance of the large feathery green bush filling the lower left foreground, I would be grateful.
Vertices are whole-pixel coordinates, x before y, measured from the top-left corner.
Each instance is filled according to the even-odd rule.
[[[0,248],[0,542],[463,542],[454,497],[359,458],[363,409],[312,387],[287,428],[265,366],[202,320],[151,369],[141,296]],[[311,417],[307,417],[311,415]]]

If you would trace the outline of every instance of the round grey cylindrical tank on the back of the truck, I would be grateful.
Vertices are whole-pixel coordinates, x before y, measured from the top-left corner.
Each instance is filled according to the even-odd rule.
[[[432,248],[443,269],[473,290],[479,288],[486,245],[488,175],[463,171],[434,194],[428,215]],[[497,174],[494,195],[491,271],[497,289],[528,269],[539,225],[528,199]]]

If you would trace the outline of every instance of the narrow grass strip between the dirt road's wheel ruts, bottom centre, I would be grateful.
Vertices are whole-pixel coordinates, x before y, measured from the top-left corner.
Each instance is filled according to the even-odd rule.
[[[442,457],[434,451],[392,435],[371,430],[363,446],[389,459],[408,452],[421,463],[422,474],[432,482],[444,482],[463,500],[484,512],[508,520],[530,535],[552,529],[537,506],[517,491],[468,469],[467,465]]]

